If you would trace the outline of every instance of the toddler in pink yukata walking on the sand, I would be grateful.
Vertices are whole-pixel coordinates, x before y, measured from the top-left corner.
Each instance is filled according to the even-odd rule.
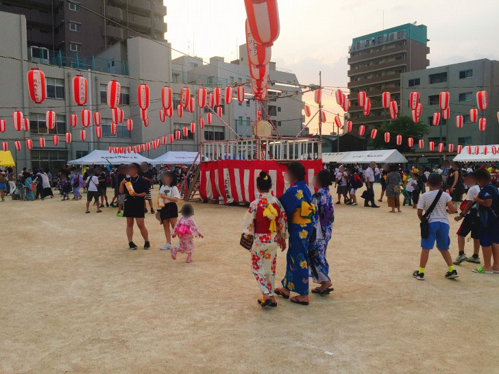
[[[171,249],[171,258],[177,259],[177,253],[187,253],[187,262],[193,262],[194,242],[193,238],[203,238],[197,229],[196,223],[191,218],[194,215],[194,208],[191,204],[185,204],[180,210],[182,217],[175,224],[173,235],[178,236],[179,243]]]

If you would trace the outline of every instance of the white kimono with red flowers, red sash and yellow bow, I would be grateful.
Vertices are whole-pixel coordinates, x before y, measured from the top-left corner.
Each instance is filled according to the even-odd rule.
[[[280,242],[288,238],[286,212],[276,197],[263,193],[249,204],[243,217],[243,234],[254,237],[252,272],[260,290],[269,296],[276,289],[276,255]]]

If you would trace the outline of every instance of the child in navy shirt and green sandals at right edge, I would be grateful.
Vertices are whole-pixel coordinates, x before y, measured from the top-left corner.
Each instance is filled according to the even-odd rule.
[[[487,169],[475,172],[476,184],[480,193],[474,201],[478,203],[478,222],[480,225],[480,245],[482,246],[483,267],[473,269],[474,273],[499,273],[499,192],[491,184],[491,175]],[[494,258],[494,265],[491,264]]]

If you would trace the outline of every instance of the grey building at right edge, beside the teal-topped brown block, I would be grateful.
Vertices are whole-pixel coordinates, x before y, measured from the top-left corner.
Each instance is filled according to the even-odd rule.
[[[472,71],[472,77],[461,78],[461,71]],[[446,73],[446,82],[430,83],[430,75]],[[419,79],[417,86],[409,87],[414,79]],[[409,95],[411,91],[419,92],[419,100],[423,104],[423,112],[420,116],[420,121],[428,124],[430,130],[426,136],[426,146],[428,138],[437,142],[444,142],[457,146],[461,145],[487,145],[497,144],[499,142],[499,128],[497,126],[497,105],[499,101],[499,62],[487,59],[461,62],[435,68],[428,68],[419,71],[402,74],[400,79],[402,87],[402,115],[411,116],[411,108],[409,108]],[[485,132],[478,130],[478,121],[471,123],[469,121],[469,111],[471,108],[476,108],[476,92],[480,89],[485,89],[489,93],[489,108],[483,113],[478,110],[478,118],[485,116],[487,119],[487,129]],[[441,122],[439,126],[433,126],[429,118],[434,112],[440,112],[438,95],[441,91],[448,90],[450,94],[450,119]],[[461,98],[460,98],[461,94]],[[467,95],[467,97],[464,97]],[[433,105],[430,105],[430,98]],[[455,125],[457,115],[465,117],[465,123],[461,129]],[[467,119],[467,121],[466,121]],[[419,151],[419,149],[415,149]]]

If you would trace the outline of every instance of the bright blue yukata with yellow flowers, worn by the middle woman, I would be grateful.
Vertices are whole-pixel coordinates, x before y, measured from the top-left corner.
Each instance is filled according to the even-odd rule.
[[[311,193],[305,181],[299,181],[288,188],[279,201],[289,222],[286,274],[281,283],[287,290],[308,295],[308,240],[312,234],[312,223],[310,219],[300,218],[300,210],[311,203]]]

